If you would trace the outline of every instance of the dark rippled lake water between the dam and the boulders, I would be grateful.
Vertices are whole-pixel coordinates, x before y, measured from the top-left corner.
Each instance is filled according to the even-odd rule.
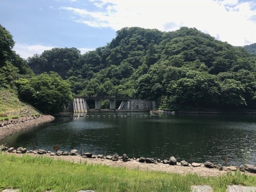
[[[160,159],[174,156],[178,161],[190,162],[191,158],[193,162],[222,165],[226,157],[227,165],[243,164],[243,153],[251,150],[246,153],[248,163],[256,165],[255,115],[149,116],[146,112],[80,115],[58,117],[51,123],[15,133],[0,140],[0,145],[51,151],[54,145],[63,151],[80,150],[82,146],[83,152],[95,155],[126,153],[132,157],[134,153],[137,158]]]

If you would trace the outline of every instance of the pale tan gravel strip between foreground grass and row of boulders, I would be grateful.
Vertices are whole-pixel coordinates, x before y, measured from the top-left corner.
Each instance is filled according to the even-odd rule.
[[[12,153],[10,152],[3,152],[2,154],[4,155],[15,155],[15,156],[23,156],[23,155],[29,155],[29,156],[33,156],[33,157],[49,157],[49,158],[53,158],[54,160],[61,160],[61,161],[70,161],[73,162],[75,164],[77,163],[87,163],[87,164],[99,164],[99,165],[106,165],[106,166],[111,166],[111,167],[125,167],[125,169],[130,169],[130,170],[140,170],[140,171],[159,171],[159,172],[166,172],[166,173],[176,173],[176,174],[180,174],[180,175],[186,175],[186,174],[197,174],[200,177],[218,177],[221,175],[225,175],[229,172],[241,172],[239,171],[238,167],[235,166],[229,166],[229,167],[223,167],[223,170],[219,170],[217,168],[209,168],[204,166],[203,163],[198,163],[198,166],[191,166],[191,164],[189,166],[182,166],[179,164],[177,165],[170,165],[170,164],[163,164],[161,163],[141,163],[138,161],[138,159],[130,159],[127,162],[122,161],[122,159],[118,159],[118,161],[112,161],[111,159],[106,159],[106,158],[99,158],[99,157],[95,157],[95,158],[86,158],[80,155],[68,155],[68,156],[64,156],[64,155],[53,155],[52,153],[47,152],[46,154],[36,154],[33,152],[27,152],[25,154],[20,154],[20,153],[15,153],[14,151]],[[244,173],[246,175],[251,175],[251,176],[256,176],[255,173],[251,173],[251,172],[241,172]]]

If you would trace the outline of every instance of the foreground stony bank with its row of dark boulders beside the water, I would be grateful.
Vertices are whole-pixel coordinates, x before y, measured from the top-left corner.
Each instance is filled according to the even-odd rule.
[[[114,155],[93,155],[92,153],[83,153],[77,149],[71,151],[57,150],[56,152],[46,151],[44,149],[27,150],[26,148],[19,147],[14,149],[13,147],[1,146],[0,150],[6,151],[10,154],[29,154],[29,155],[45,155],[53,157],[55,159],[63,159],[67,161],[89,162],[95,164],[106,164],[114,167],[127,167],[130,169],[139,169],[142,171],[164,171],[173,172],[179,174],[196,173],[201,176],[217,176],[227,173],[227,171],[241,171],[246,174],[255,175],[256,167],[253,165],[241,165],[241,166],[222,166],[220,164],[213,164],[211,162],[205,163],[188,163],[186,161],[177,162],[175,157],[170,157],[169,160],[154,159],[154,158],[129,158],[126,154],[119,156]]]

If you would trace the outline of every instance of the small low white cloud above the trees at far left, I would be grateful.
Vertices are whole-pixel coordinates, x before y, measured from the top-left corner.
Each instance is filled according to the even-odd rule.
[[[34,54],[41,54],[45,50],[50,50],[55,46],[44,46],[44,45],[28,45],[26,43],[15,43],[13,50],[20,55],[21,58],[27,59],[32,57]]]

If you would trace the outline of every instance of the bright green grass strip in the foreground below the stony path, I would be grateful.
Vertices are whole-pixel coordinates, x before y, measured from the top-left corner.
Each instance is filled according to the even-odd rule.
[[[225,191],[228,185],[256,186],[256,177],[239,172],[220,177],[196,174],[143,172],[138,169],[56,161],[43,156],[0,154],[0,190],[20,191],[190,191],[192,185],[210,185]]]

